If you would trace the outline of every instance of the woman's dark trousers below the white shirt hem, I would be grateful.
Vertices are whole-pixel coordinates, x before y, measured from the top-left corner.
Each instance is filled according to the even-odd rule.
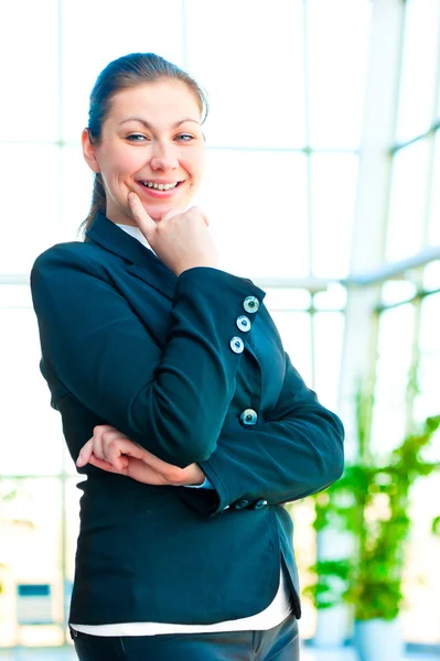
[[[267,631],[89,636],[71,629],[79,661],[299,661],[298,621]]]

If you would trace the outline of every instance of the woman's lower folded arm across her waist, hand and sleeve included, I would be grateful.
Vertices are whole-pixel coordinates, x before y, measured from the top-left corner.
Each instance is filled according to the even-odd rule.
[[[330,486],[344,468],[342,423],[318,402],[287,354],[285,382],[270,420],[249,430],[230,420],[222,429],[214,453],[197,464],[185,468],[167,464],[141,446],[131,445],[114,427],[103,430],[103,434],[96,427],[95,434],[97,437],[85,446],[84,458],[93,457],[98,468],[126,470],[139,481],[174,486],[201,484],[206,476],[216,498],[196,497],[190,492],[193,489],[183,489],[180,496],[210,516],[240,498],[265,498],[269,505],[304,498]],[[101,435],[106,437],[104,451]]]

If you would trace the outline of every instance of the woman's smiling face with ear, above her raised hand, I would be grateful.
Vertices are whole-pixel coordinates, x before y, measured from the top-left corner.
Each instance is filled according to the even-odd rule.
[[[185,209],[198,188],[205,145],[195,95],[180,80],[141,83],[118,91],[98,144],[83,131],[84,156],[100,172],[107,217],[136,225],[127,196],[135,191],[153,220]]]

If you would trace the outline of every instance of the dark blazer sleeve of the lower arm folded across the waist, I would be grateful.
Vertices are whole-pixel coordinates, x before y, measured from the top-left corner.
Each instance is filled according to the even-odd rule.
[[[286,377],[271,420],[222,430],[215,452],[200,464],[215,492],[183,494],[201,513],[304,498],[339,479],[344,468],[341,420],[322,407],[286,356]],[[197,498],[198,496],[198,498]],[[258,506],[257,506],[258,508]]]

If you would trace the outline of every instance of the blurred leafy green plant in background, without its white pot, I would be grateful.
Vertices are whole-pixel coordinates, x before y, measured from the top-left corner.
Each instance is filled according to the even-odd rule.
[[[318,608],[345,602],[353,605],[358,620],[391,620],[403,603],[410,490],[416,480],[440,468],[422,457],[440,427],[440,415],[428,418],[378,465],[366,442],[371,403],[365,395],[358,397],[358,462],[348,465],[326,491],[314,496],[318,535],[328,529],[346,532],[354,552],[337,560],[318,560],[311,567],[316,581],[304,592]],[[433,520],[432,531],[440,534],[440,517]]]

